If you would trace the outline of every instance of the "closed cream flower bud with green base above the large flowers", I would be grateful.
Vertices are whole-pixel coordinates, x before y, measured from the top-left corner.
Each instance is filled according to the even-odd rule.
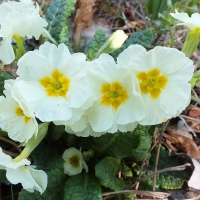
[[[116,49],[119,49],[125,42],[128,36],[122,30],[117,30],[111,34],[104,45],[99,49],[98,55],[102,53],[111,53]]]

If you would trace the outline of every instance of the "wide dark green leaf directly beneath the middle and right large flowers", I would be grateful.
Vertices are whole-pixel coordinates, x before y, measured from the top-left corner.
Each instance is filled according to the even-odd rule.
[[[115,158],[133,157],[137,161],[141,161],[151,146],[151,137],[148,134],[148,128],[139,125],[132,132],[107,133],[97,138],[83,138],[81,146],[93,149],[97,152],[98,156]]]

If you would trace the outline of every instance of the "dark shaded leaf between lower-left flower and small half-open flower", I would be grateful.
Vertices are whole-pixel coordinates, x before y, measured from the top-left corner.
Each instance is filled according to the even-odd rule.
[[[59,142],[41,142],[31,154],[33,165],[46,172],[54,169],[63,169],[64,160],[61,156],[60,146]]]

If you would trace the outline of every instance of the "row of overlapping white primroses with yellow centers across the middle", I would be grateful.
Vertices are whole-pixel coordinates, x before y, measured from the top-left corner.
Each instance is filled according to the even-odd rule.
[[[107,54],[88,62],[49,42],[26,53],[18,67],[19,77],[5,81],[0,126],[20,142],[37,135],[35,118],[83,137],[162,123],[188,105],[194,68],[173,48],[131,45],[117,62]]]

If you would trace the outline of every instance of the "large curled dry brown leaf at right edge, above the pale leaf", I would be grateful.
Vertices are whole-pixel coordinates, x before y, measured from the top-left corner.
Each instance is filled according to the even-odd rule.
[[[164,133],[163,138],[165,139],[165,143],[170,150],[175,152],[182,151],[191,158],[194,158],[200,162],[199,147],[193,140],[183,135],[170,134],[170,133],[169,134]]]

